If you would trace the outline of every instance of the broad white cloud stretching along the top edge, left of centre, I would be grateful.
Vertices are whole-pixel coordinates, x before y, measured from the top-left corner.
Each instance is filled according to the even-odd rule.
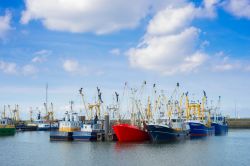
[[[41,20],[50,30],[105,34],[135,28],[155,8],[171,1],[26,0],[21,23]]]

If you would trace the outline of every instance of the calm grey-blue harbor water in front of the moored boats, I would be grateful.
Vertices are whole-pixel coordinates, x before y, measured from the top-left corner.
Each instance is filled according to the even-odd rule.
[[[0,137],[1,166],[250,165],[250,130],[175,143],[51,142],[49,132]]]

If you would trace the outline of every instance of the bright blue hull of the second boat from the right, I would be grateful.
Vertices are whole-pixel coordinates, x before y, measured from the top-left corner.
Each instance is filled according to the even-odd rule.
[[[214,126],[207,127],[202,123],[188,122],[190,127],[190,136],[192,137],[202,137],[214,135]]]

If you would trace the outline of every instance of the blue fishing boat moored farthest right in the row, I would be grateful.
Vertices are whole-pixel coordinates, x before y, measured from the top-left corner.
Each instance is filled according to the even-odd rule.
[[[215,135],[225,135],[228,132],[228,124],[226,118],[222,115],[216,114],[211,117],[212,126],[215,129]]]

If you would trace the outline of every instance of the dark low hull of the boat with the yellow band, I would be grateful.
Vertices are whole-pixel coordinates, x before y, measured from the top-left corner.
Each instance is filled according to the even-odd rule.
[[[60,132],[60,131],[51,131],[50,140],[51,141],[72,141],[73,133],[72,132]]]

